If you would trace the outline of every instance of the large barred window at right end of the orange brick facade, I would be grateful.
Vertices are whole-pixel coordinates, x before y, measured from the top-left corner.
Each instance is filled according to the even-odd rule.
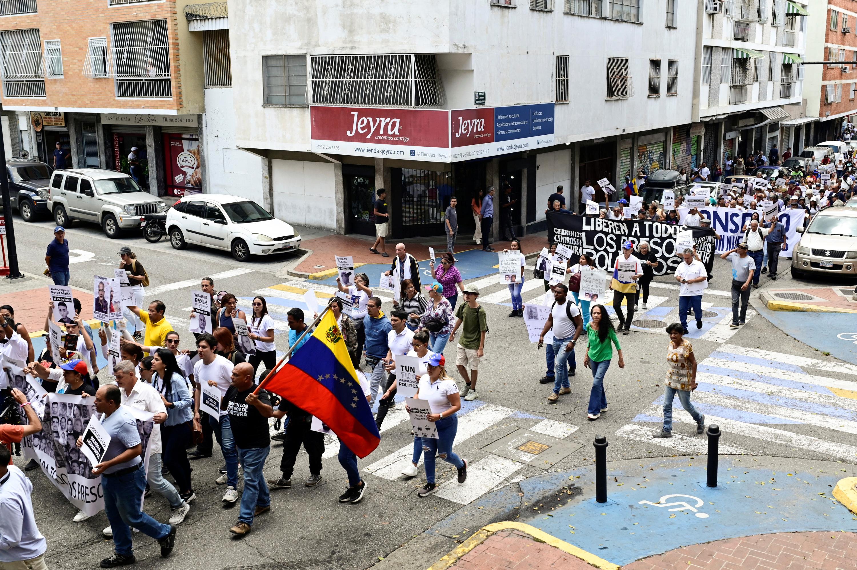
[[[119,98],[170,98],[170,43],[166,20],[111,24],[111,63]]]

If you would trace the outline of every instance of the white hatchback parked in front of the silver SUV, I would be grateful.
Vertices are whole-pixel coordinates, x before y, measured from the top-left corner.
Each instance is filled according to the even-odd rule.
[[[195,194],[178,200],[166,214],[166,231],[176,249],[189,243],[232,252],[237,261],[252,255],[291,252],[301,236],[253,200],[229,194]]]

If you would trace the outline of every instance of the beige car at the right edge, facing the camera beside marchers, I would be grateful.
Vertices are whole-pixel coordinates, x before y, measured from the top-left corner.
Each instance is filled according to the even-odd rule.
[[[857,209],[831,206],[818,211],[809,226],[797,229],[792,276],[804,273],[857,275]]]

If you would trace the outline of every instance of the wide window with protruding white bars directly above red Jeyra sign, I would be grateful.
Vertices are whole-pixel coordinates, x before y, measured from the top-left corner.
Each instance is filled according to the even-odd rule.
[[[434,54],[312,56],[313,104],[438,107],[443,86]]]

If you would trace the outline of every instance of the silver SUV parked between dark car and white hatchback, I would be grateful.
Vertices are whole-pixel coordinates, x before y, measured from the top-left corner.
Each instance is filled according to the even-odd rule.
[[[139,229],[144,215],[168,208],[129,175],[107,169],[55,170],[50,196],[57,226],[94,222],[110,238],[119,237],[124,229]]]

